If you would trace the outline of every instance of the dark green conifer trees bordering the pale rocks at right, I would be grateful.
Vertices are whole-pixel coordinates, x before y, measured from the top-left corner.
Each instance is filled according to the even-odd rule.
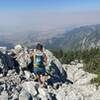
[[[85,71],[98,75],[97,78],[91,80],[91,83],[100,85],[100,49],[91,48],[89,50],[66,52],[59,49],[52,50],[52,52],[63,64],[70,64],[70,62],[74,60],[78,60],[78,62],[82,60]]]

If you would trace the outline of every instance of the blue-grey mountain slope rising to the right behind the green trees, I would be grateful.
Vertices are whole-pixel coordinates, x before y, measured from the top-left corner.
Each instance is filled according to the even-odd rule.
[[[46,41],[45,44],[47,47],[63,50],[100,48],[100,24],[72,29],[61,37],[54,37]]]

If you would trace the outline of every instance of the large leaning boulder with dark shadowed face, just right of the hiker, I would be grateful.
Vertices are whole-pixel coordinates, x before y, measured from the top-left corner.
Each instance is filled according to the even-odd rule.
[[[45,50],[44,52],[48,57],[49,66],[47,66],[47,70],[49,71],[49,74],[53,76],[51,81],[53,83],[65,82],[67,78],[67,74],[64,68],[62,67],[60,61],[55,56],[53,56],[53,54],[50,51]]]

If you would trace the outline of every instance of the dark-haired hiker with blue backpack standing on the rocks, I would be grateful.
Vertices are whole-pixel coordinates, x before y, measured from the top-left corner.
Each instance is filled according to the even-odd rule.
[[[33,56],[33,71],[35,77],[38,77],[38,81],[41,87],[45,86],[46,81],[46,63],[47,63],[47,56],[43,52],[43,45],[38,43],[36,45],[36,49],[32,54]]]

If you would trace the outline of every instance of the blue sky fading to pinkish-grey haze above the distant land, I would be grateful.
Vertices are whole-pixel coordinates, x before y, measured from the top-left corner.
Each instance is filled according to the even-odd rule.
[[[46,31],[100,24],[100,0],[0,0],[0,31]]]

